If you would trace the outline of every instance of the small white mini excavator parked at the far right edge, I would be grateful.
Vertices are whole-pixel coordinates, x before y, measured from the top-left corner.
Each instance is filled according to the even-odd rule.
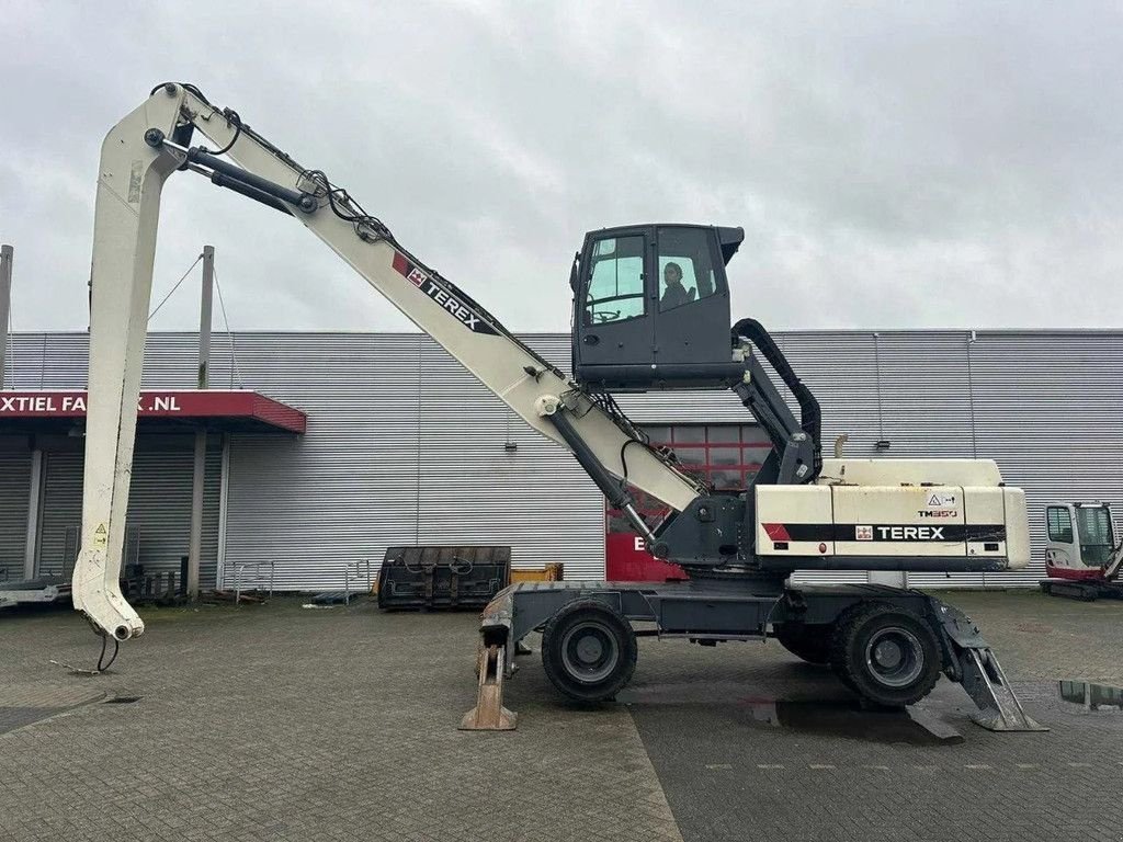
[[[1107,503],[1046,506],[1046,573],[1041,589],[1070,600],[1123,600],[1123,539]]]

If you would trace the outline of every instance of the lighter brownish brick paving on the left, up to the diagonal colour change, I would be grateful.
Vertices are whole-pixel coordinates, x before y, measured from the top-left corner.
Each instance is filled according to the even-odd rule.
[[[48,663],[97,658],[76,615],[0,616],[0,683],[141,696],[0,734],[0,839],[681,839],[623,707],[576,715],[530,669],[517,732],[456,730],[472,614],[145,617],[91,679]]]

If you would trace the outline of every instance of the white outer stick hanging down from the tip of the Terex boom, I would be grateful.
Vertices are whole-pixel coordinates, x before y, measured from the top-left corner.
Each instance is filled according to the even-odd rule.
[[[93,628],[117,641],[144,633],[144,622],[121,594],[121,553],[161,191],[177,165],[137,141],[152,128],[171,134],[181,101],[166,92],[152,97],[117,123],[101,147],[90,273],[82,550],[72,596]]]

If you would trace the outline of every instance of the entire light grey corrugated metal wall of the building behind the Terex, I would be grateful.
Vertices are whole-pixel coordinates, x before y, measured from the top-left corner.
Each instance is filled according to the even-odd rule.
[[[526,339],[568,368],[567,336]],[[777,340],[823,405],[828,452],[844,432],[849,456],[993,457],[1026,489],[1031,570],[912,583],[1030,585],[1043,567],[1047,500],[1101,498],[1123,513],[1123,331],[809,331]],[[18,387],[84,385],[84,351],[83,335],[17,336]],[[145,385],[190,387],[194,354],[193,335],[150,337]],[[309,413],[302,438],[232,438],[228,570],[273,559],[283,586],[334,587],[347,562],[381,559],[392,543],[486,541],[512,543],[519,565],[560,560],[570,577],[603,574],[603,502],[592,483],[428,338],[216,336],[211,372],[216,387],[256,388]],[[642,423],[747,420],[731,393],[621,404]],[[509,439],[514,452],[504,449]],[[887,452],[874,448],[879,439],[891,441]]]

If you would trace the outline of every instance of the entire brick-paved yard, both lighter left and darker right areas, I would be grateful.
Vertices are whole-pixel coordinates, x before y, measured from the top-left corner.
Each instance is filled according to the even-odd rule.
[[[149,633],[95,678],[48,662],[95,658],[75,615],[0,614],[8,706],[70,708],[0,734],[0,838],[1120,839],[1123,716],[1065,705],[1050,681],[1123,685],[1123,604],[949,600],[1052,732],[992,735],[941,686],[925,707],[964,742],[910,744],[915,730],[853,720],[829,675],[778,647],[645,640],[629,704],[567,708],[532,656],[509,685],[519,731],[463,733],[469,614],[147,612]],[[141,698],[82,704],[91,692]]]

